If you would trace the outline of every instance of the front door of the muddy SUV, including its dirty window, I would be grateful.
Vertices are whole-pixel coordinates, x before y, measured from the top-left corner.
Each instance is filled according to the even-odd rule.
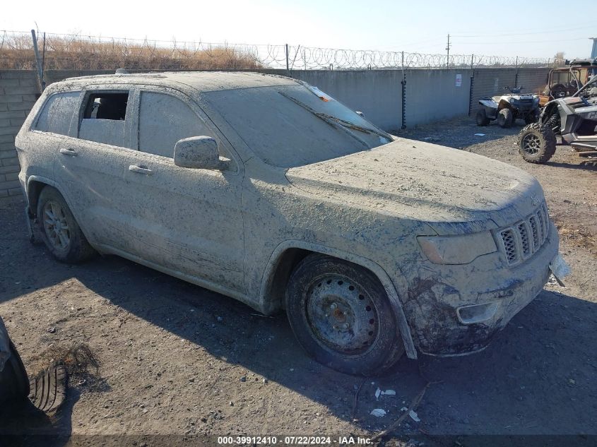
[[[175,143],[213,136],[227,142],[182,94],[143,91],[138,107],[138,152],[124,171],[135,244],[129,250],[152,263],[227,289],[244,292],[242,169],[189,169],[174,164]],[[229,149],[230,150],[230,149]]]

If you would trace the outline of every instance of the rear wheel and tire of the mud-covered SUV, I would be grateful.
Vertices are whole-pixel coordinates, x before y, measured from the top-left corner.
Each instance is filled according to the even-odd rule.
[[[69,205],[51,186],[45,186],[37,200],[37,222],[44,243],[58,261],[76,264],[95,254]]]

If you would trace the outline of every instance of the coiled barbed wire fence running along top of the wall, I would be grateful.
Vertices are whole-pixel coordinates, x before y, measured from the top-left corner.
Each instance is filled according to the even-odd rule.
[[[555,58],[423,54],[376,50],[137,40],[82,34],[37,33],[45,70],[379,70],[562,66]],[[0,69],[36,68],[31,32],[0,30]]]

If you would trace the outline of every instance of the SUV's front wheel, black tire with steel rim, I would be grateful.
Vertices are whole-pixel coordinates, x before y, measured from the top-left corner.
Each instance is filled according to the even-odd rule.
[[[378,375],[404,352],[384,287],[348,261],[307,256],[290,276],[285,306],[300,345],[337,371]]]

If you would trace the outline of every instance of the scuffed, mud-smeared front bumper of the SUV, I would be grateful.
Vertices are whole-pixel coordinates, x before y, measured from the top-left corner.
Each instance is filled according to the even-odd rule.
[[[504,266],[500,251],[461,266],[421,263],[403,304],[418,350],[454,356],[485,349],[543,290],[558,244],[550,222],[543,246],[516,266]]]

